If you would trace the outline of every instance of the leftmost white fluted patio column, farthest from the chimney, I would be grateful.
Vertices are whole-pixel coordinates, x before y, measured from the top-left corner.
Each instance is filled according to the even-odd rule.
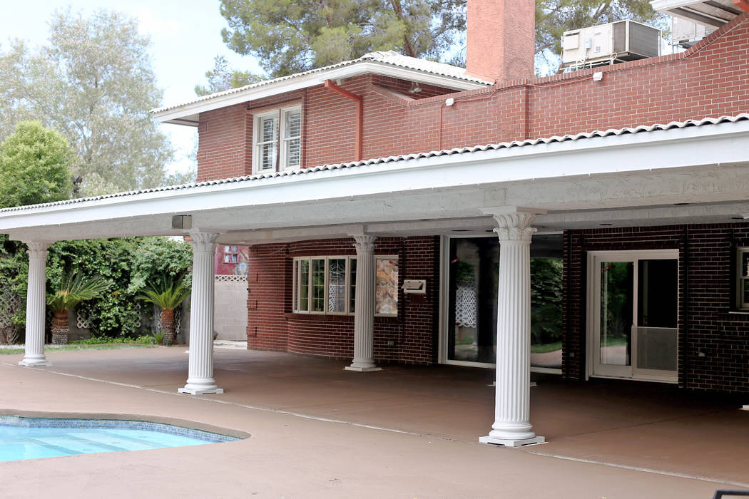
[[[26,291],[25,355],[18,364],[26,367],[51,366],[44,355],[44,310],[46,309],[46,256],[49,242],[28,245],[28,288]]]

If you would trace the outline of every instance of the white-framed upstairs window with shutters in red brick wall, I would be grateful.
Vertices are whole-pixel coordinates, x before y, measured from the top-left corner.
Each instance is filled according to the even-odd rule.
[[[302,108],[297,105],[255,114],[252,144],[254,173],[299,168]]]

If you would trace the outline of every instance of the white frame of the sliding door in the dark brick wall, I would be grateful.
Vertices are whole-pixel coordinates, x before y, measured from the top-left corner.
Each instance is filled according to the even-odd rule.
[[[586,296],[587,296],[587,310],[586,310],[586,373],[585,379],[591,377],[596,378],[617,378],[617,379],[635,379],[639,381],[652,381],[652,382],[667,382],[676,383],[678,382],[678,366],[677,370],[671,373],[670,371],[662,370],[645,370],[637,369],[636,367],[636,355],[637,355],[637,334],[631,334],[631,365],[622,366],[622,369],[618,370],[617,373],[601,374],[594,373],[594,367],[596,364],[596,355],[598,355],[598,341],[600,341],[600,331],[598,327],[601,324],[601,272],[597,272],[598,264],[601,261],[609,262],[633,262],[634,263],[634,281],[633,287],[633,330],[637,328],[637,277],[638,269],[637,263],[639,260],[676,260],[677,265],[679,263],[679,250],[678,249],[662,249],[662,250],[630,250],[630,251],[588,251],[587,254],[587,277],[586,277]],[[678,279],[678,277],[677,277]],[[677,296],[679,293],[678,281],[677,281]],[[678,307],[677,307],[678,310]],[[678,319],[677,319],[678,320]],[[678,329],[677,329],[678,335]],[[678,336],[677,336],[678,337]],[[678,359],[679,342],[676,342],[675,352]],[[615,371],[616,368],[612,369]]]

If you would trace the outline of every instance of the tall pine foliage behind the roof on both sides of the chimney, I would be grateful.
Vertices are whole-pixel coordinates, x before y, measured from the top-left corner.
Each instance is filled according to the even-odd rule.
[[[221,0],[221,14],[227,46],[257,58],[270,77],[375,50],[465,64],[466,0]],[[536,0],[537,70],[557,69],[562,32],[619,19],[657,24],[664,16],[649,0]],[[226,64],[219,69],[214,91],[241,86]]]

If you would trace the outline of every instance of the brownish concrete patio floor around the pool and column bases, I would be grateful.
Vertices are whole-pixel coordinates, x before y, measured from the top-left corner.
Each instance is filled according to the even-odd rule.
[[[124,414],[249,432],[230,444],[0,463],[1,497],[712,498],[749,487],[749,411],[662,385],[539,377],[550,443],[478,444],[494,372],[215,351],[226,393],[178,395],[184,348],[0,357],[4,414]],[[184,423],[187,420],[190,423]]]

